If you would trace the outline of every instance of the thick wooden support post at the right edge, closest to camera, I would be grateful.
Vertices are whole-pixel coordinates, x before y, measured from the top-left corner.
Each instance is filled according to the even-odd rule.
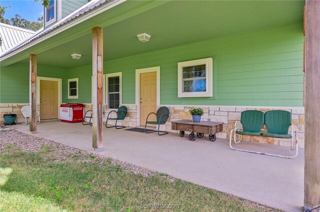
[[[320,1],[306,0],[305,7],[304,211],[308,211],[320,206]]]

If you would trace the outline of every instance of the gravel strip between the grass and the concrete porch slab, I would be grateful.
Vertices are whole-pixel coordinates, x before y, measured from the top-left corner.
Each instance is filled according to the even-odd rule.
[[[140,174],[145,177],[159,174],[132,164],[107,158],[16,130],[0,131],[0,152],[7,152],[12,147],[19,148],[24,152],[46,151],[49,153],[48,157],[53,158],[54,162],[67,162],[71,159],[75,159],[78,162],[99,163],[100,166],[103,166],[105,163],[110,163],[114,166],[119,166],[124,172],[133,172],[134,174]],[[162,177],[167,178],[169,182],[174,181],[173,177],[165,175]]]

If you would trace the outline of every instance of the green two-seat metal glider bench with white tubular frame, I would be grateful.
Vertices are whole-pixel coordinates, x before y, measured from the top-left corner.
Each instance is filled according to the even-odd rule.
[[[242,125],[242,131],[239,131],[237,127],[238,121],[234,124],[234,129],[230,131],[229,146],[232,150],[237,150],[241,152],[249,152],[260,155],[274,156],[279,158],[295,158],[298,154],[297,146],[297,131],[294,133],[295,142],[293,142],[293,125],[291,123],[291,113],[284,110],[272,110],[267,111],[265,114],[258,110],[247,110],[241,113],[240,123]],[[262,125],[267,128],[267,133],[261,133]],[[292,125],[292,126],[291,126]],[[291,126],[291,132],[289,132],[289,127]],[[251,135],[251,136],[266,136],[266,137],[276,137],[276,138],[288,138],[291,139],[291,150],[294,150],[294,156],[283,156],[275,155],[269,153],[255,152],[250,150],[235,149],[231,146],[233,134],[233,141],[235,144],[241,142],[241,135]],[[239,140],[236,140],[236,135],[238,135]]]

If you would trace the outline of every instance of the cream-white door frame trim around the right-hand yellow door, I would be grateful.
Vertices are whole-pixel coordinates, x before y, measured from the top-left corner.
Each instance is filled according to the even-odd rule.
[[[136,125],[140,126],[140,74],[156,72],[156,107],[160,106],[160,66],[135,69]]]

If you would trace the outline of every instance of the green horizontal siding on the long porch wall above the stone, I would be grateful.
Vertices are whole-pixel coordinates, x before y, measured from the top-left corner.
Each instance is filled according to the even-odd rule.
[[[105,61],[103,71],[122,71],[123,104],[135,104],[135,69],[160,66],[161,104],[302,106],[302,43],[302,25],[295,23]],[[216,57],[216,98],[177,98],[177,62],[210,56]],[[80,86],[72,101],[90,102],[90,70],[69,70]]]

